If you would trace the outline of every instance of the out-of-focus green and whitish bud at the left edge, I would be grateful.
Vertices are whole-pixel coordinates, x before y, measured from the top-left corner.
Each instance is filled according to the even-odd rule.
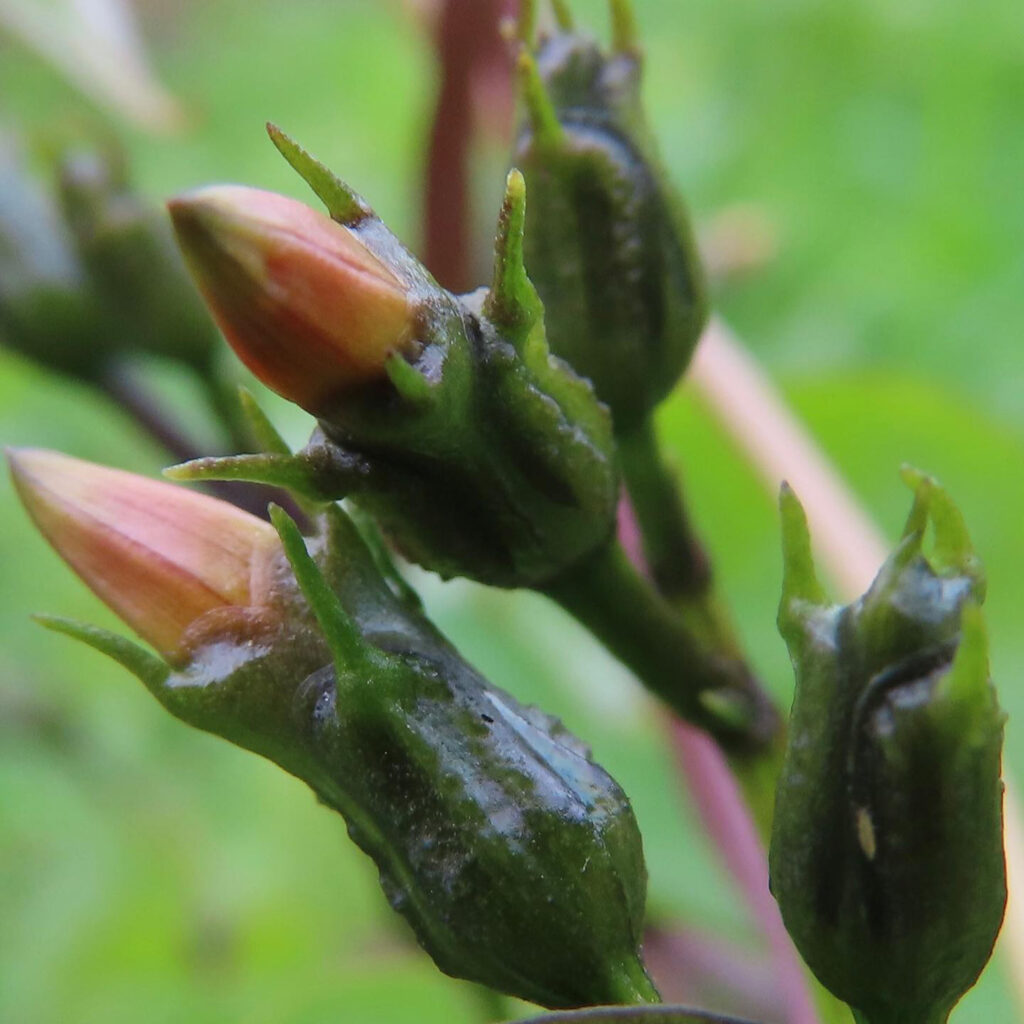
[[[59,206],[0,139],[0,340],[90,382],[139,352],[208,376],[220,339],[161,212],[116,158],[80,153],[58,171]]]

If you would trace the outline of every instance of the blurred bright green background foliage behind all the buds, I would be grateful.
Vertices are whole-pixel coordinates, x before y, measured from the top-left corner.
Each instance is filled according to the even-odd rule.
[[[603,3],[573,6],[604,31]],[[908,506],[903,461],[961,502],[989,568],[1008,764],[1024,777],[1024,5],[636,9],[650,113],[698,224],[738,204],[774,239],[764,265],[720,282],[718,308],[890,536]],[[155,201],[216,180],[309,198],[265,138],[272,120],[417,243],[434,70],[408,9],[147,0],[138,13],[189,119],[163,137],[109,123]],[[0,125],[45,148],[100,120],[0,36]],[[494,155],[484,164],[498,171]],[[198,406],[173,375],[161,387]],[[308,421],[270,408],[300,440]],[[785,699],[773,496],[685,387],[660,426],[755,663]],[[93,393],[3,352],[0,440],[145,473],[167,462]],[[369,861],[302,784],[189,731],[99,655],[29,623],[35,610],[113,620],[33,531],[6,478],[0,545],[0,1021],[483,1019],[478,994],[411,945]],[[755,952],[625,672],[539,598],[416,579],[467,656],[560,714],[630,794],[653,910]],[[1018,1019],[1014,973],[996,956],[956,1024]]]

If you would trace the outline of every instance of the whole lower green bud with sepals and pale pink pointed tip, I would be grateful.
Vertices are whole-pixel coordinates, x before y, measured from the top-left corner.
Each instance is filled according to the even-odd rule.
[[[281,510],[279,539],[171,484],[52,453],[11,463],[47,539],[161,656],[44,625],[303,779],[442,971],[555,1008],[656,998],[626,796],[559,722],[459,656],[339,508],[307,549]]]

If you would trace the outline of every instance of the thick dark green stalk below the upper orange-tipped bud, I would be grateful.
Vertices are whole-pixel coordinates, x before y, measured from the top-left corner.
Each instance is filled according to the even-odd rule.
[[[743,660],[709,646],[615,543],[547,593],[649,690],[718,741],[764,835],[774,805],[782,722]]]

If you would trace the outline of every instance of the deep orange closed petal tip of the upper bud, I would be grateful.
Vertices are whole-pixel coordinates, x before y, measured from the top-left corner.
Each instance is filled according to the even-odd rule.
[[[322,412],[385,379],[414,345],[406,286],[343,224],[258,188],[216,185],[169,204],[188,266],[242,360]]]

